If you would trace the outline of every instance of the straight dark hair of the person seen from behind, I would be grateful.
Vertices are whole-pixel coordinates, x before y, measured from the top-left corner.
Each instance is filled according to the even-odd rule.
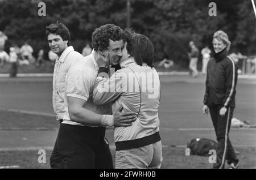
[[[135,62],[140,66],[146,63],[154,67],[155,48],[152,41],[147,36],[131,33],[129,30],[125,30],[125,35],[127,52],[134,57]]]

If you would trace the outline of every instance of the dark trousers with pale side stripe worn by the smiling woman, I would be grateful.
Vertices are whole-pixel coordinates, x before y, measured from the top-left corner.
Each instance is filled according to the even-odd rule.
[[[209,107],[210,117],[212,118],[218,141],[217,162],[213,164],[213,168],[224,168],[226,160],[228,164],[238,162],[236,153],[234,152],[233,146],[229,140],[229,130],[234,108],[227,108],[225,115],[222,117],[220,115],[221,108],[221,105]]]

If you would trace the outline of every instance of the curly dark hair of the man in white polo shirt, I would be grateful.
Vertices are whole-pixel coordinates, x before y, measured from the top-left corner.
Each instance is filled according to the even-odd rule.
[[[95,29],[92,34],[92,48],[96,52],[106,50],[109,47],[109,40],[126,41],[123,29],[114,24],[105,24]]]

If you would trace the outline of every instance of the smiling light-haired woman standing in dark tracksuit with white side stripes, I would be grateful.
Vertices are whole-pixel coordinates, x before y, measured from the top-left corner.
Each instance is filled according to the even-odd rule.
[[[230,124],[236,105],[238,70],[232,58],[228,56],[230,44],[225,32],[215,32],[214,52],[207,66],[203,112],[205,115],[210,112],[218,141],[217,162],[213,168],[224,168],[226,160],[229,168],[238,168],[238,159],[229,140]]]

